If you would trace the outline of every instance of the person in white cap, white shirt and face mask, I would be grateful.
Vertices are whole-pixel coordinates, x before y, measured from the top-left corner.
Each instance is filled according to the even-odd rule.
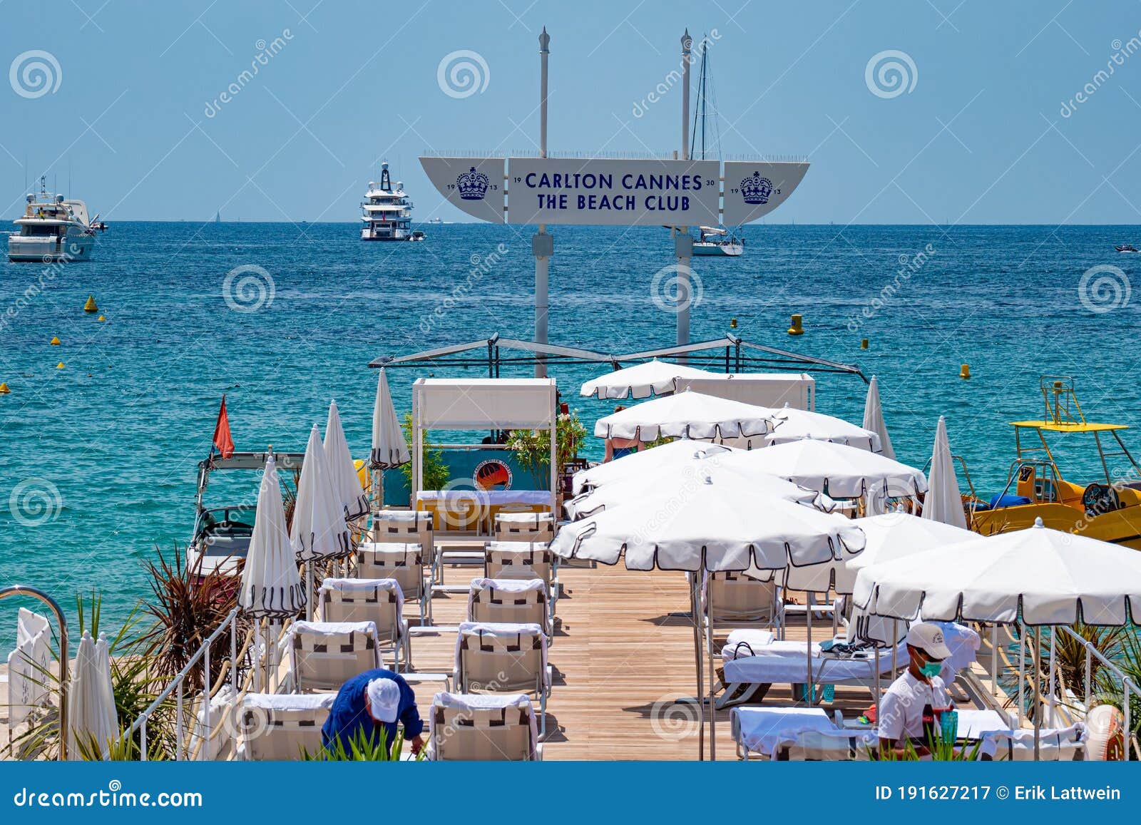
[[[919,622],[907,631],[907,670],[880,701],[876,720],[880,751],[901,755],[911,741],[915,752],[925,755],[939,729],[939,714],[954,706],[939,676],[950,648],[942,638],[942,628],[933,622]]]

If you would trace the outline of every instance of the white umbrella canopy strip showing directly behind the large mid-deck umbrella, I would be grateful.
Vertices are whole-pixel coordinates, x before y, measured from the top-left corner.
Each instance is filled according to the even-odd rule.
[[[656,450],[657,447],[655,447]],[[625,461],[625,458],[620,459]],[[642,499],[669,495],[679,490],[693,488],[702,483],[703,474],[726,482],[736,480],[747,485],[748,492],[758,500],[782,499],[798,504],[808,504],[824,512],[831,512],[835,502],[828,496],[808,487],[801,487],[767,472],[721,468],[717,456],[683,463],[656,467],[646,472],[631,474],[578,495],[563,505],[572,519],[585,518],[615,507],[638,504]]]

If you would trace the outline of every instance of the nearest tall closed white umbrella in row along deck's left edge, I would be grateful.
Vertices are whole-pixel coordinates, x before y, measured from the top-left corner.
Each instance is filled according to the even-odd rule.
[[[266,472],[258,491],[253,536],[242,569],[238,605],[254,618],[296,616],[305,607],[301,576],[285,529],[277,462],[272,454],[266,459]]]

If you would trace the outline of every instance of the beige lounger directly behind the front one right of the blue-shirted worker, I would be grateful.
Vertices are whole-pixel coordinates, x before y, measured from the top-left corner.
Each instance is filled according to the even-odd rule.
[[[545,737],[551,671],[542,628],[494,622],[461,624],[455,639],[455,686],[467,694],[534,695],[539,698],[540,737]]]

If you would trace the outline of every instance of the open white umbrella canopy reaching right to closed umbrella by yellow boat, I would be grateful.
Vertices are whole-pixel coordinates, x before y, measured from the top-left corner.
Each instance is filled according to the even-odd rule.
[[[752,467],[833,499],[904,498],[926,491],[926,478],[914,467],[867,450],[811,438],[734,453],[722,456],[720,463]]]

